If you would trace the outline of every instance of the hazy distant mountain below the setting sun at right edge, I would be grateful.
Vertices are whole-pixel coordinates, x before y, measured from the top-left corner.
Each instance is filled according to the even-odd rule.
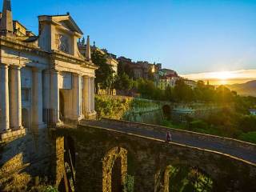
[[[233,84],[233,85],[226,85],[230,88],[230,90],[237,91],[238,94],[241,95],[250,95],[256,97],[256,80],[241,83],[241,84]]]

